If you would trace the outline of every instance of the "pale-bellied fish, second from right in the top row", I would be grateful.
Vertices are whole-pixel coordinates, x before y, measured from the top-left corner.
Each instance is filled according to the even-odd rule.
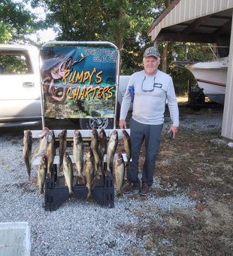
[[[110,140],[107,143],[107,172],[106,175],[110,176],[111,169],[113,167],[114,154],[116,152],[116,147],[118,144],[118,133],[116,130],[113,130]]]

